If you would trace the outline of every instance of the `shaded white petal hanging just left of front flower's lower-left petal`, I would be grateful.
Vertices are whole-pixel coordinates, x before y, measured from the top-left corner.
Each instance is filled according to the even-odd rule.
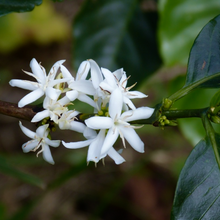
[[[101,148],[105,138],[105,130],[100,130],[95,140],[89,145],[87,161],[97,163],[100,159]]]

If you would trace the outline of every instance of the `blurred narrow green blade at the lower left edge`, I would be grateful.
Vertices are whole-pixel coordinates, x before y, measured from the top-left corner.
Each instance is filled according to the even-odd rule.
[[[44,183],[38,177],[25,173],[21,170],[15,168],[12,164],[9,164],[4,156],[0,156],[0,172],[12,176],[14,178],[20,179],[26,183],[32,184],[44,188]]]

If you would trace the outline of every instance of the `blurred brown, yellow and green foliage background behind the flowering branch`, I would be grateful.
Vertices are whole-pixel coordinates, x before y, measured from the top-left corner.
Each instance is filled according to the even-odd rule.
[[[24,78],[21,70],[30,69],[33,57],[47,70],[66,59],[72,73],[92,58],[112,71],[123,67],[131,75],[129,84],[138,82],[135,89],[149,95],[136,104],[153,107],[184,85],[193,41],[220,12],[218,0],[8,0],[5,8],[3,3],[0,99],[14,103],[26,92],[10,88],[8,81]],[[206,107],[215,92],[195,91],[176,107]],[[179,120],[178,128],[165,130],[145,126],[138,132],[146,153],[127,147],[120,166],[109,159],[105,166],[87,166],[87,149],[62,146],[52,152],[56,164],[51,166],[41,155],[22,153],[27,139],[17,119],[0,119],[0,219],[7,220],[169,219],[179,172],[204,136],[197,119]],[[66,142],[81,139],[72,132],[54,135]]]

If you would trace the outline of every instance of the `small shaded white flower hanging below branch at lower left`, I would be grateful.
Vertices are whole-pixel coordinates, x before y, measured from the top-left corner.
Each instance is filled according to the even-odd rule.
[[[50,140],[48,138],[49,125],[46,124],[38,127],[36,133],[24,127],[21,122],[19,122],[19,125],[23,133],[29,138],[33,139],[22,145],[23,152],[27,153],[30,151],[36,151],[41,147],[41,150],[37,153],[37,156],[42,152],[44,160],[48,163],[54,164],[49,146],[58,147],[60,145],[60,140]]]

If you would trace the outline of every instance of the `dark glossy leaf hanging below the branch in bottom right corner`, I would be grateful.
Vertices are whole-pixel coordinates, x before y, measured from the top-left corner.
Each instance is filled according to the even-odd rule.
[[[218,147],[220,135],[215,135]],[[218,148],[218,151],[220,148]],[[188,157],[178,180],[171,219],[219,219],[220,170],[209,138]]]

